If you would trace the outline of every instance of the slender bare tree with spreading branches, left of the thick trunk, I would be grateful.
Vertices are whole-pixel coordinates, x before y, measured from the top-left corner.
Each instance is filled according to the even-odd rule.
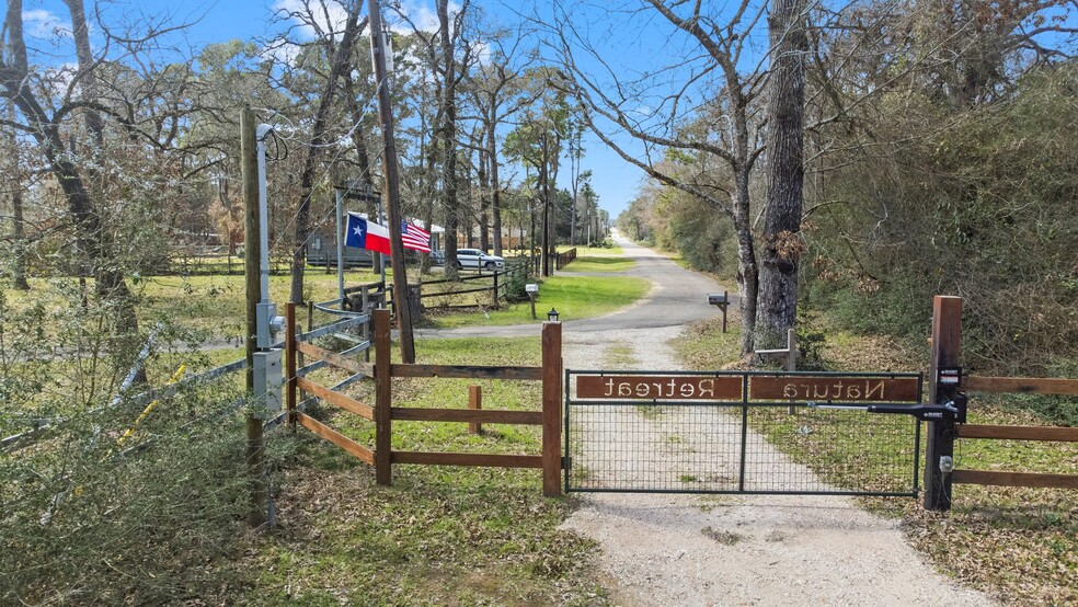
[[[765,82],[762,70],[742,71],[750,59],[752,34],[766,5],[742,0],[723,11],[719,22],[701,2],[645,0],[639,15],[665,23],[688,41],[686,59],[635,79],[618,73],[582,33],[571,8],[558,3],[552,31],[564,68],[561,85],[572,91],[584,123],[608,147],[651,177],[708,202],[734,225],[737,239],[737,286],[741,294],[742,350],[750,352],[756,329],[758,266],[750,218],[750,175],[764,151],[756,103]],[[582,59],[601,66],[596,76]],[[656,93],[665,81],[673,87]],[[649,107],[649,102],[654,103]],[[703,126],[687,127],[687,122]],[[630,147],[626,136],[633,141]],[[637,151],[641,149],[642,151]],[[683,152],[689,163],[661,167],[668,151]],[[716,172],[722,175],[715,179]]]

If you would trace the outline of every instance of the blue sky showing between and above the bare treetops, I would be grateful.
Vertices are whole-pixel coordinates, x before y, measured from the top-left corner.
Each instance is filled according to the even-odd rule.
[[[182,33],[172,36],[172,42],[182,46],[202,47],[209,43],[225,42],[233,38],[242,41],[264,39],[273,34],[276,9],[298,0],[87,0],[88,10],[99,7],[106,13],[108,23],[144,23],[162,20],[176,25],[191,23]],[[388,0],[382,0],[386,4]],[[433,0],[395,0],[421,26],[426,24],[431,30],[436,26]],[[759,0],[765,2],[766,0]],[[653,10],[639,10],[643,3],[640,0],[472,0],[472,5],[490,15],[490,20],[504,26],[515,26],[525,20],[521,15],[539,13],[549,20],[551,5],[561,3],[576,26],[596,47],[596,50],[608,61],[610,70],[621,77],[632,78],[650,75],[655,82],[665,80],[656,89],[641,91],[631,95],[632,107],[624,107],[628,113],[644,119],[651,110],[663,103],[663,96],[685,79],[684,67],[676,71],[658,70],[664,65],[685,60],[691,62],[699,59],[699,47],[683,36],[672,36],[672,27]],[[706,7],[722,12],[730,7],[721,1]],[[736,2],[733,3],[736,5]],[[452,7],[452,4],[450,4]],[[684,8],[683,8],[684,9]],[[708,9],[706,9],[707,11]],[[61,0],[24,0],[27,35],[47,38],[54,28],[70,28],[67,7]],[[386,13],[387,11],[383,11]],[[93,16],[90,16],[93,21]],[[1078,10],[1071,11],[1066,18],[1067,26],[1075,26],[1078,21]],[[766,19],[760,20],[752,35],[747,37],[746,55],[739,64],[746,71],[755,68],[752,65],[766,54]],[[542,36],[539,36],[541,39]],[[72,60],[70,50],[60,53],[58,60]],[[608,82],[601,77],[601,66],[596,61],[582,61],[586,69],[599,76],[600,82]],[[697,84],[697,99],[700,102],[716,84],[703,80]],[[691,104],[688,104],[691,105]],[[641,147],[629,141],[626,137],[615,137],[638,157]],[[586,156],[583,169],[593,172],[593,187],[599,194],[599,205],[610,211],[612,217],[624,209],[635,196],[644,179],[641,170],[623,161],[612,150],[588,134],[584,141]],[[567,163],[561,172],[560,185],[566,186],[570,175]]]

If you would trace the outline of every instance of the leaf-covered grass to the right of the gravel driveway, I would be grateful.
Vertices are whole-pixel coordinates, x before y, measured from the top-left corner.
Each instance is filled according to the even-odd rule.
[[[675,342],[689,368],[721,368],[739,359],[741,324],[732,318],[730,333],[713,319],[688,328]],[[861,336],[827,328],[821,353],[829,370],[916,370],[928,358],[879,336]],[[1024,396],[1022,398],[1035,398]],[[1007,396],[972,394],[970,423],[1051,425]],[[922,433],[924,436],[924,433]],[[778,440],[777,436],[769,436]],[[867,449],[883,449],[872,445]],[[924,443],[924,439],[922,439]],[[782,448],[781,442],[776,443]],[[818,444],[814,470],[825,481],[841,483],[846,442]],[[924,449],[924,447],[922,447]],[[1050,442],[959,440],[955,466],[975,470],[1078,473],[1078,445]],[[924,480],[922,480],[924,482]],[[1074,491],[955,485],[950,513],[930,513],[919,501],[864,499],[884,516],[898,517],[908,540],[939,570],[1014,605],[1078,604],[1078,501]]]

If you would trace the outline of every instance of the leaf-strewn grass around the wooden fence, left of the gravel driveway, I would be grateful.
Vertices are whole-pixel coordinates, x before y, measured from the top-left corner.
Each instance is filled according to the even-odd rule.
[[[418,362],[537,365],[537,337],[432,340]],[[394,405],[465,408],[468,385],[484,409],[540,409],[535,381],[400,379]],[[366,401],[370,386],[352,396]],[[323,411],[333,427],[372,445],[372,424]],[[393,424],[393,448],[538,454],[535,426]],[[243,602],[270,605],[605,605],[595,546],[559,530],[572,503],[544,499],[538,470],[395,466],[392,486],[374,469],[306,431],[279,433],[290,455],[277,504],[282,526],[254,538],[239,564]]]

